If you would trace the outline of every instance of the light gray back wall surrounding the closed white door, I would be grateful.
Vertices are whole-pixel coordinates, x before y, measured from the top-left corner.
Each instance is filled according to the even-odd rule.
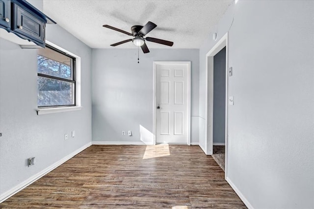
[[[141,142],[153,132],[153,61],[191,61],[191,142],[198,143],[199,50],[93,49],[93,141]],[[133,135],[122,136],[131,130]]]

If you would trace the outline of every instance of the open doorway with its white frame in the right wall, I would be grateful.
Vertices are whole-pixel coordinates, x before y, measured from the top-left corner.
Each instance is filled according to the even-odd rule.
[[[224,62],[224,65],[223,63]],[[218,63],[218,68],[217,68]],[[228,32],[206,54],[206,154],[225,151],[225,176],[228,159]],[[215,67],[217,69],[215,69]],[[223,71],[223,72],[221,72]],[[224,82],[223,82],[224,79]],[[223,92],[224,91],[224,92]],[[224,125],[223,125],[224,124]],[[216,151],[217,152],[217,151]],[[220,156],[221,157],[221,156]],[[222,155],[223,157],[223,155]]]

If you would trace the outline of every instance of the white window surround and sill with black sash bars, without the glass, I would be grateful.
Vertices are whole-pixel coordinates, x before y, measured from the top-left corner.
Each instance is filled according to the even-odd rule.
[[[51,76],[51,75],[46,75],[46,74],[41,74],[37,72],[37,78],[38,77],[45,77],[45,78],[52,78],[52,79],[58,79],[58,80],[62,80],[62,81],[66,81],[66,82],[72,82],[74,83],[74,104],[69,104],[69,105],[48,105],[48,106],[38,106],[38,102],[37,102],[37,115],[42,115],[42,114],[50,114],[50,113],[58,113],[58,112],[67,112],[67,111],[74,111],[74,110],[80,110],[82,109],[82,106],[80,105],[80,94],[81,94],[81,90],[80,90],[80,68],[81,68],[81,58],[72,53],[69,52],[55,44],[53,44],[52,42],[46,40],[46,47],[56,51],[56,52],[60,52],[62,54],[65,54],[66,56],[72,58],[73,60],[73,70],[72,70],[72,80],[71,79],[67,79],[67,78],[60,78],[60,77],[55,77],[55,76]],[[38,53],[37,53],[38,55]],[[38,71],[38,69],[37,69]],[[37,91],[38,91],[38,87],[37,87]]]

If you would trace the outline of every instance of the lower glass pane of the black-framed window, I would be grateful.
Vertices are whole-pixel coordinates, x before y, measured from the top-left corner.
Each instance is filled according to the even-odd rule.
[[[38,106],[74,104],[74,83],[38,77]]]

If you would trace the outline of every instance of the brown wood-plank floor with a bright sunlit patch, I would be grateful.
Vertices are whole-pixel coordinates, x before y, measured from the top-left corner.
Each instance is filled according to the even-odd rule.
[[[199,146],[93,145],[0,208],[246,208]]]

